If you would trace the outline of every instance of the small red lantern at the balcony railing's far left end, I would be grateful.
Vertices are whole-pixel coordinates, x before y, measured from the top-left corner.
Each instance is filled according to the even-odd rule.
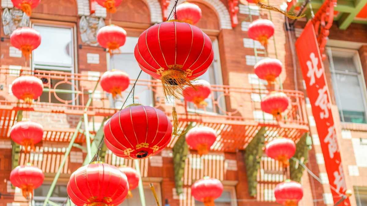
[[[22,99],[25,103],[32,104],[33,99],[37,99],[41,96],[43,84],[37,77],[21,76],[12,82],[11,91],[18,99]]]

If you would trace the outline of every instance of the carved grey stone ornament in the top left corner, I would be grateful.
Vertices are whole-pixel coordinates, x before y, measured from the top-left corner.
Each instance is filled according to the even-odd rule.
[[[6,36],[9,36],[19,27],[29,26],[29,16],[17,8],[5,8],[1,18],[3,19],[3,29]]]

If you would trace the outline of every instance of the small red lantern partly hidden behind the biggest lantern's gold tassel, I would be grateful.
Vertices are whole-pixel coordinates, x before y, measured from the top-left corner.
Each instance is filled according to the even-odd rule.
[[[182,95],[187,102],[193,102],[197,107],[206,106],[207,103],[205,99],[211,93],[211,88],[209,82],[205,80],[195,80],[192,82],[192,85],[195,87],[186,86],[183,88]]]

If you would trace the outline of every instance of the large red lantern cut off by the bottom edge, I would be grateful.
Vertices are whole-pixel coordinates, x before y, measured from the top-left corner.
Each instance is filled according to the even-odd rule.
[[[77,206],[110,206],[125,200],[129,184],[119,168],[93,162],[71,174],[66,190]]]

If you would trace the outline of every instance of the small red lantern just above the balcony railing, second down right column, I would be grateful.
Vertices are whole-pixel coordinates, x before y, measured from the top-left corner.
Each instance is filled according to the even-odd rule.
[[[278,59],[265,58],[261,59],[254,66],[255,74],[262,80],[271,82],[275,81],[275,78],[279,77],[281,73],[282,64]]]

